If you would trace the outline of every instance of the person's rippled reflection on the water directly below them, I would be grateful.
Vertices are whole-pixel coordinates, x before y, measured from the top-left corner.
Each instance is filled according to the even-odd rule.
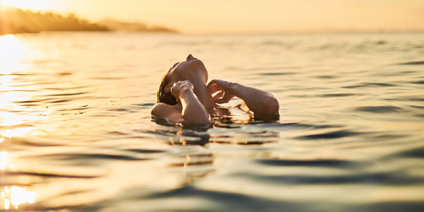
[[[234,123],[232,123],[234,124]],[[264,124],[264,123],[263,123]],[[213,143],[230,145],[263,145],[278,142],[278,131],[266,130],[260,124],[235,124],[237,130],[228,127],[211,129],[182,129],[174,126],[158,126],[156,131],[167,136],[167,144],[175,146],[175,153],[167,167],[175,169],[182,177],[181,186],[192,184],[215,172],[216,154],[209,150]],[[260,127],[259,127],[260,126]]]

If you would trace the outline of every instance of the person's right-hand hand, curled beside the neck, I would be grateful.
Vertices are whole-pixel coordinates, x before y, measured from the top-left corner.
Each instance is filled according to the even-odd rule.
[[[230,102],[230,100],[235,97],[231,89],[234,85],[235,83],[214,79],[208,83],[207,87],[211,95],[216,93],[216,95],[212,97],[213,101],[217,104],[223,104]]]

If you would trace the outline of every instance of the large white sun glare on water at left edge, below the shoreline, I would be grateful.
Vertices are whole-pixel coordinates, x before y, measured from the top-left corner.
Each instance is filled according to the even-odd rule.
[[[28,67],[23,65],[23,42],[15,35],[4,35],[0,36],[0,47],[0,105],[6,110],[0,111],[0,135],[11,139],[35,130],[35,126],[28,126],[27,123],[48,119],[46,114],[49,111],[20,105],[20,102],[31,100],[35,93],[30,91],[36,90],[30,84],[16,82],[27,77],[24,72]],[[4,138],[0,139],[4,141]]]

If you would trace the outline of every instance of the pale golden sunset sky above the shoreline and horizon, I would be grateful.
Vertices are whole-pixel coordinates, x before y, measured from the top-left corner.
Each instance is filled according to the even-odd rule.
[[[424,30],[424,0],[0,0],[33,11],[163,25],[182,33]]]

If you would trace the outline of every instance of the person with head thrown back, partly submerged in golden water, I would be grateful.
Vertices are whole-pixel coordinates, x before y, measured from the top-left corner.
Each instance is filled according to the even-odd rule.
[[[238,107],[255,119],[279,119],[278,100],[270,93],[239,83],[207,81],[206,66],[189,54],[185,61],[174,64],[163,76],[151,114],[172,124],[208,125],[223,114],[219,112],[220,104],[239,98],[242,102],[231,107]]]

